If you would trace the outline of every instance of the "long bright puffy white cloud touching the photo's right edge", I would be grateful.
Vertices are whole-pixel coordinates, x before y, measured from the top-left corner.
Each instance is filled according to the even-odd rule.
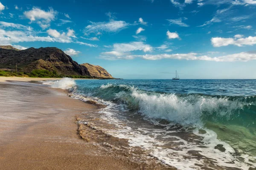
[[[222,37],[215,37],[211,39],[212,45],[214,47],[221,47],[227,45],[236,45],[236,46],[243,46],[243,45],[254,45],[256,44],[256,37],[246,37],[241,38],[241,35],[235,35],[235,38],[222,38]]]

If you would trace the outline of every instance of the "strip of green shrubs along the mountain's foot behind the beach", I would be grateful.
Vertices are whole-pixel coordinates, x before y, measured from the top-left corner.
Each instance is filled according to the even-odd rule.
[[[79,79],[90,79],[92,77],[88,76],[77,76],[77,75],[62,75],[57,74],[57,71],[48,71],[48,70],[33,70],[31,73],[15,72],[15,71],[3,71],[0,70],[0,76],[5,77],[42,77],[42,78],[79,78]]]

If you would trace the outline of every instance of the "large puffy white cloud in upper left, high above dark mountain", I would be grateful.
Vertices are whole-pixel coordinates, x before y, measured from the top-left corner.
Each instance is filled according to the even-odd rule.
[[[57,11],[54,11],[52,8],[49,8],[49,11],[41,10],[40,8],[33,7],[30,11],[25,11],[24,16],[30,20],[30,23],[37,21],[41,28],[45,29],[50,26],[50,22],[55,20],[55,16],[58,14]]]

